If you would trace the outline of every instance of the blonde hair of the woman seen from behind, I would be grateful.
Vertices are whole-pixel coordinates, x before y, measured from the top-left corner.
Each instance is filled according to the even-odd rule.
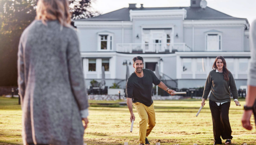
[[[68,0],[39,0],[37,2],[36,19],[42,23],[58,20],[62,26],[69,27],[71,16]]]

